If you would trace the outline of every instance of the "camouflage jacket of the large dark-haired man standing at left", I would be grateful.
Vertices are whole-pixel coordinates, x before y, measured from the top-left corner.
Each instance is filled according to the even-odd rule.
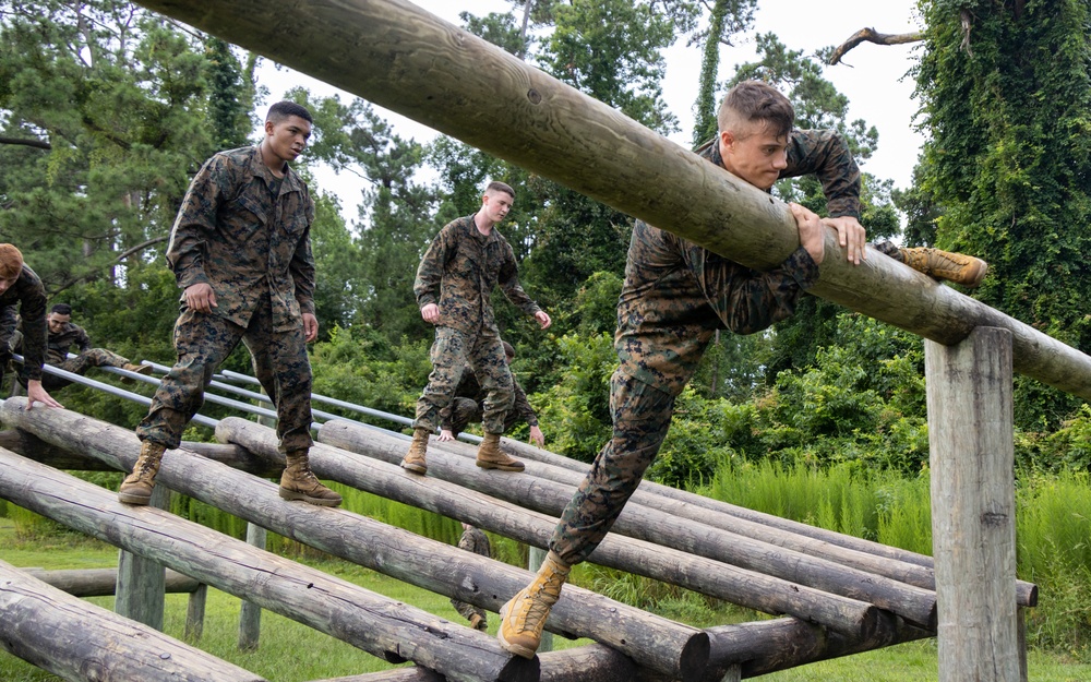
[[[242,327],[266,295],[275,332],[314,313],[314,203],[286,168],[278,180],[260,146],[216,154],[193,178],[170,234],[167,263],[178,286],[209,284],[218,304],[213,314]],[[269,188],[277,186],[274,198]]]

